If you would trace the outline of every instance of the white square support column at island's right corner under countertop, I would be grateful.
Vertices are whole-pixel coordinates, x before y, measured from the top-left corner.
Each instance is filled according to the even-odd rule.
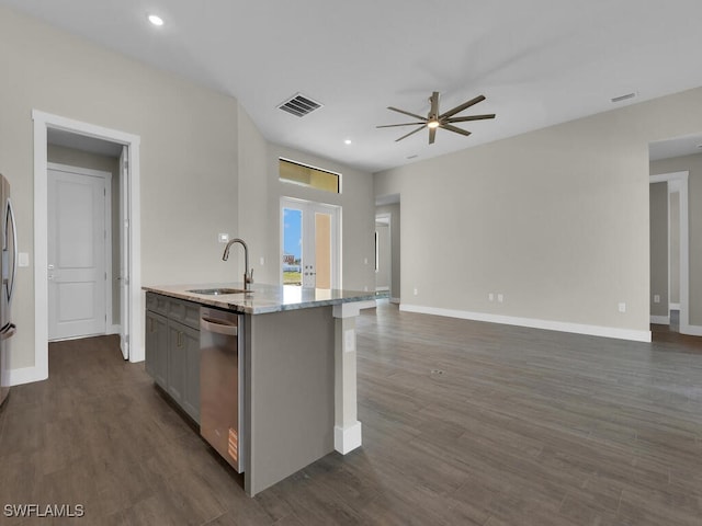
[[[335,317],[335,427],[333,448],[342,455],[361,446],[358,421],[355,318],[358,302],[333,306]]]

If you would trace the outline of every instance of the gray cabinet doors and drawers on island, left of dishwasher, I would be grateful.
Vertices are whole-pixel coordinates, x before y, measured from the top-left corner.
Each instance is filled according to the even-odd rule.
[[[146,295],[146,371],[200,423],[200,305]]]

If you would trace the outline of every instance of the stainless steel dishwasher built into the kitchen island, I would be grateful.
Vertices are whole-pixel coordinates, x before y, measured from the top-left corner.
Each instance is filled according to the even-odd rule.
[[[200,308],[200,434],[244,471],[244,317]]]

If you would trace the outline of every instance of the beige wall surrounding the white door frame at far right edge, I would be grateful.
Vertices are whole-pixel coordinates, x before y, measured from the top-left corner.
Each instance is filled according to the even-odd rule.
[[[695,93],[699,91],[695,90]],[[698,101],[697,107],[691,106],[691,111],[694,113],[700,111],[700,107],[702,103]],[[700,129],[702,129],[702,117]],[[650,163],[652,175],[681,171],[690,172],[688,179],[690,324],[702,325],[702,153]]]

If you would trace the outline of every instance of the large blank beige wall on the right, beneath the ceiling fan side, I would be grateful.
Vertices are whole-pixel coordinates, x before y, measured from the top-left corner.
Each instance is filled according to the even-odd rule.
[[[648,331],[648,144],[700,130],[695,89],[377,173],[403,302]]]

